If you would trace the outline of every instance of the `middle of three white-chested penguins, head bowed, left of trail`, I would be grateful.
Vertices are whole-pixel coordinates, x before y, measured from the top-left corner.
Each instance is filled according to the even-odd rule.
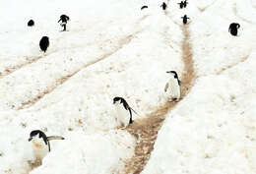
[[[115,105],[121,125],[124,125],[124,127],[126,127],[129,124],[132,124],[132,111],[134,110],[128,105],[126,100],[122,97],[116,96],[113,98],[113,104]],[[134,113],[136,112],[134,111]]]

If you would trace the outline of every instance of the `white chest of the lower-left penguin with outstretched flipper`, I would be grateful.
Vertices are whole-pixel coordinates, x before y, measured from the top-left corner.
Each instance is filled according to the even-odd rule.
[[[48,153],[49,149],[42,139],[34,138],[32,140],[32,151],[35,159],[41,160]]]

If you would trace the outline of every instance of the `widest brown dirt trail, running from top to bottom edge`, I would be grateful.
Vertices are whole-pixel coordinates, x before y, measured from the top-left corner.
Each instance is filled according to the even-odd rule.
[[[181,98],[184,98],[193,87],[195,80],[194,63],[192,48],[189,42],[188,26],[182,27],[182,60],[184,70],[181,75]],[[136,120],[129,125],[126,130],[137,139],[134,156],[126,161],[124,172],[125,174],[139,174],[143,171],[147,164],[151,152],[154,149],[155,141],[158,137],[158,132],[164,121],[168,110],[174,108],[178,102],[167,102],[159,107],[146,118]]]

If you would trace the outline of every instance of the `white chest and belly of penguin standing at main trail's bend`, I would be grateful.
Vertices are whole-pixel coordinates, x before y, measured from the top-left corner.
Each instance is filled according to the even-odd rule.
[[[168,97],[168,100],[172,101],[173,99],[178,100],[180,98],[180,87],[178,85],[178,80],[171,78],[165,86],[165,92]]]

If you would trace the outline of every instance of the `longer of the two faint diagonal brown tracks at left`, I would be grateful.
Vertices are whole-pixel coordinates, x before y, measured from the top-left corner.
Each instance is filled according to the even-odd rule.
[[[18,108],[18,110],[21,109],[25,109],[28,107],[31,107],[33,104],[35,104],[38,100],[40,100],[43,96],[45,96],[45,94],[48,94],[50,92],[52,92],[56,87],[61,86],[62,84],[64,84],[66,81],[68,81],[71,77],[73,77],[74,75],[76,75],[78,72],[80,72],[81,70],[88,68],[89,66],[92,66],[94,64],[96,64],[99,61],[102,61],[104,59],[106,59],[107,57],[111,56],[112,54],[116,53],[118,50],[122,49],[122,47],[128,43],[131,42],[131,40],[135,37],[136,34],[140,33],[142,30],[136,31],[135,33],[132,33],[130,35],[127,35],[126,37],[120,39],[118,41],[118,47],[116,47],[112,52],[108,52],[105,53],[104,55],[102,55],[101,57],[99,57],[98,59],[80,67],[79,69],[77,69],[76,71],[72,72],[71,74],[61,77],[60,79],[57,79],[55,81],[54,84],[52,84],[49,87],[46,87],[45,90],[39,92],[34,98],[22,103],[22,106]]]

